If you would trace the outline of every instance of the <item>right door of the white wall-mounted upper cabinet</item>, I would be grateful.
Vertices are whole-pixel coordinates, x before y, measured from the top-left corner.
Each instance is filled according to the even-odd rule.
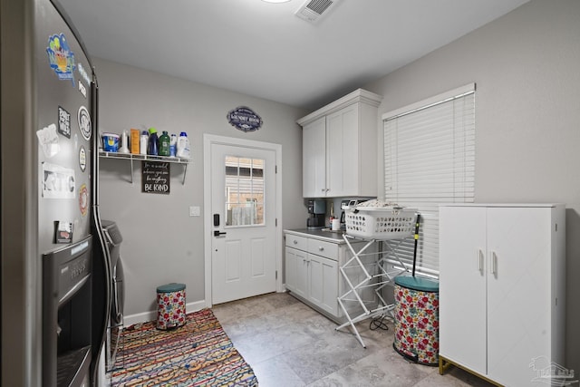
[[[358,103],[326,117],[326,173],[328,196],[359,195]]]

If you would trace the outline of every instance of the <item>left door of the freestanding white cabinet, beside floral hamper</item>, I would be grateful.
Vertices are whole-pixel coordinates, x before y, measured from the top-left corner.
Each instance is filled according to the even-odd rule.
[[[440,355],[487,373],[486,208],[440,208]]]

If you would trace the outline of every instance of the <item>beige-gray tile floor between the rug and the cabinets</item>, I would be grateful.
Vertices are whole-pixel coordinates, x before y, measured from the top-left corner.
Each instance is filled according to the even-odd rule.
[[[214,305],[214,314],[256,373],[260,387],[299,386],[491,386],[452,367],[411,363],[392,348],[389,330],[357,324],[366,349],[347,328],[286,293]]]

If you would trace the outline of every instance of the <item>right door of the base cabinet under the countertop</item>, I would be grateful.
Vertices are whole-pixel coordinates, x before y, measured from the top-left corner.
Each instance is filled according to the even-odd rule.
[[[308,254],[308,300],[325,311],[338,315],[338,265],[337,262]]]

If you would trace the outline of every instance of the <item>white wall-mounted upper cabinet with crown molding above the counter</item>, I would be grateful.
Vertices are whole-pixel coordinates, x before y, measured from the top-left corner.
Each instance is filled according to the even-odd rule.
[[[358,89],[298,120],[303,127],[303,196],[377,195],[380,95]]]

